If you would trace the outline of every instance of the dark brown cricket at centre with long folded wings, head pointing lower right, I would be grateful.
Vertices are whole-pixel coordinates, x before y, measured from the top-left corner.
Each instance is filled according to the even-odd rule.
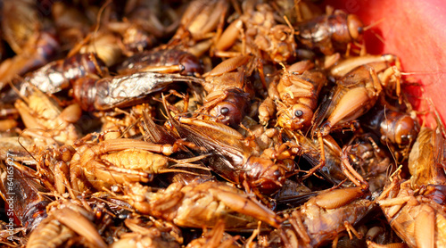
[[[272,194],[284,183],[285,169],[259,157],[235,129],[211,120],[181,116],[170,117],[169,124],[187,142],[202,147],[204,154],[211,153],[205,160],[219,176],[262,194]]]

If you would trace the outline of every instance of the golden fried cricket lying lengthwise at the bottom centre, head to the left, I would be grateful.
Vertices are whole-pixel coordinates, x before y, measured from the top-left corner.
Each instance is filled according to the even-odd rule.
[[[280,227],[273,211],[250,199],[244,192],[225,183],[170,184],[152,192],[147,186],[131,185],[126,190],[128,202],[144,214],[172,221],[179,227],[214,227],[223,219],[227,229],[257,227],[261,220]]]

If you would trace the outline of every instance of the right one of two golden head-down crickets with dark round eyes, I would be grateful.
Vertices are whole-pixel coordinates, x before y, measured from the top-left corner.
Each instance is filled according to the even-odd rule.
[[[318,107],[319,92],[326,84],[324,73],[313,69],[312,62],[296,62],[282,75],[277,84],[281,100],[277,104],[277,124],[280,127],[292,130],[310,128]]]

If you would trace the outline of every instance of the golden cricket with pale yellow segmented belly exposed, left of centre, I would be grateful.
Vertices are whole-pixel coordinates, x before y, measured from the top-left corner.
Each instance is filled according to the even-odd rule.
[[[157,153],[170,155],[178,150],[177,145],[158,145],[129,138],[82,145],[70,161],[71,184],[74,190],[83,192],[89,185],[101,190],[126,182],[148,182],[153,174],[173,171],[167,169],[173,159]]]

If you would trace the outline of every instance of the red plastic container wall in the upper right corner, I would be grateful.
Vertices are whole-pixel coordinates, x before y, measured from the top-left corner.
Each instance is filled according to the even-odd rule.
[[[405,87],[419,111],[428,110],[430,97],[446,120],[446,2],[443,0],[331,0],[324,4],[359,15],[365,26],[369,54],[401,58],[405,79],[421,87]],[[379,37],[383,37],[384,42]],[[422,116],[434,123],[432,114]]]

